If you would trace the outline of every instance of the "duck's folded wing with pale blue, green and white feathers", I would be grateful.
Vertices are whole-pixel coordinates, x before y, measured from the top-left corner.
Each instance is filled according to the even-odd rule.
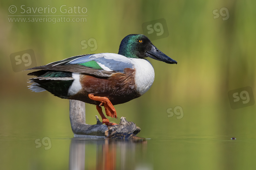
[[[132,60],[130,58],[114,53],[99,53],[74,56],[27,70],[40,69],[79,72],[100,77],[110,77],[113,73],[123,73],[125,68],[133,68]],[[35,71],[28,75],[38,75],[40,74],[39,72],[40,71]]]

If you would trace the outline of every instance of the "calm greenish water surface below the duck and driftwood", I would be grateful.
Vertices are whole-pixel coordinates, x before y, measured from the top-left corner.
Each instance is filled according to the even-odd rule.
[[[0,143],[1,169],[153,170],[256,167],[255,139],[1,137]]]

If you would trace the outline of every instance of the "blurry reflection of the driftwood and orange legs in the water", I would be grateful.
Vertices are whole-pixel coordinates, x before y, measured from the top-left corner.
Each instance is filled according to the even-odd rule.
[[[96,155],[95,155],[96,152]],[[96,160],[95,160],[96,159]],[[89,162],[87,162],[89,160]],[[146,165],[146,140],[113,140],[72,138],[69,151],[69,169],[137,169]],[[86,162],[86,164],[85,164]],[[153,169],[153,168],[152,168]]]

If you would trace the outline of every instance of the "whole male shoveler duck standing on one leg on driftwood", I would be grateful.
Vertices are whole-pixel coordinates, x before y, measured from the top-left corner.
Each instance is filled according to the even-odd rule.
[[[130,34],[122,40],[118,54],[79,55],[28,69],[40,69],[28,74],[37,76],[29,79],[33,83],[29,87],[35,92],[47,90],[63,99],[95,104],[102,123],[115,125],[104,116],[101,106],[107,116],[117,118],[113,105],[138,98],[150,89],[155,72],[145,57],[177,64],[145,35]]]

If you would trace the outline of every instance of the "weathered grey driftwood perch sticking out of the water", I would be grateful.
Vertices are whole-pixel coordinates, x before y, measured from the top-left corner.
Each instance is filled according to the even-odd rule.
[[[141,139],[136,135],[140,128],[133,122],[121,117],[120,123],[114,126],[102,124],[98,116],[94,125],[85,123],[85,103],[78,100],[69,100],[69,117],[72,131],[75,135],[106,136],[106,138]]]

